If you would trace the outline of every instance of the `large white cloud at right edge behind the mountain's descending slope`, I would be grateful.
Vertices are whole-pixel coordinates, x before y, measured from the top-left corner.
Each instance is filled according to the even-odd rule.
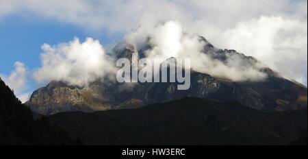
[[[307,23],[281,16],[261,16],[217,32],[212,41],[219,47],[253,56],[283,77],[306,84]]]

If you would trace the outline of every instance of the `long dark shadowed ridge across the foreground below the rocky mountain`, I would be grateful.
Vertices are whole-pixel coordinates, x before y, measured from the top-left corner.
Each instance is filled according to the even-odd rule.
[[[288,145],[307,131],[307,109],[263,112],[195,97],[49,119],[86,145]]]

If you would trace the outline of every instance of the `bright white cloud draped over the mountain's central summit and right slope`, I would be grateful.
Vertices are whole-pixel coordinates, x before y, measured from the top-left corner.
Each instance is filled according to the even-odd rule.
[[[144,29],[140,27],[136,32],[127,36],[127,42],[144,43],[140,42],[142,40],[148,41],[148,45],[151,45],[151,49],[146,50],[145,53],[146,58],[152,60],[166,60],[171,57],[190,58],[192,69],[195,71],[231,79],[234,82],[260,81],[267,77],[260,71],[263,65],[255,60],[244,59],[238,54],[230,54],[226,60],[222,61],[203,53],[205,41],[200,40],[197,35],[185,32],[185,28],[176,21],[158,25],[151,29],[149,34],[144,34]],[[162,62],[162,60],[157,62]]]

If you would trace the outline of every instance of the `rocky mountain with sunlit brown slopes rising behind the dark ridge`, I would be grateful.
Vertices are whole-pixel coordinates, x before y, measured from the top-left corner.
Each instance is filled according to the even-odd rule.
[[[217,49],[205,38],[203,53],[215,60],[225,62],[227,57],[242,59],[244,66],[254,66],[257,60],[235,50]],[[121,42],[112,51],[115,59],[129,58],[138,50],[139,58],[151,48],[145,45],[137,49]],[[269,68],[261,68],[268,78],[260,82],[232,82],[192,70],[191,87],[177,90],[177,83],[138,83],[118,84],[111,79],[98,79],[86,88],[69,86],[64,82],[53,81],[46,87],[34,91],[26,105],[40,114],[57,112],[139,108],[151,103],[173,101],[183,97],[199,97],[213,101],[238,101],[243,106],[266,112],[300,110],[307,108],[307,88],[296,82],[284,79]]]

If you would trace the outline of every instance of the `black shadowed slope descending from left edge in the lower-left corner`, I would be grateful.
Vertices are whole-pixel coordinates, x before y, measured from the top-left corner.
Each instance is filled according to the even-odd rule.
[[[81,140],[49,123],[34,120],[31,110],[16,99],[0,79],[0,145],[76,145]]]

